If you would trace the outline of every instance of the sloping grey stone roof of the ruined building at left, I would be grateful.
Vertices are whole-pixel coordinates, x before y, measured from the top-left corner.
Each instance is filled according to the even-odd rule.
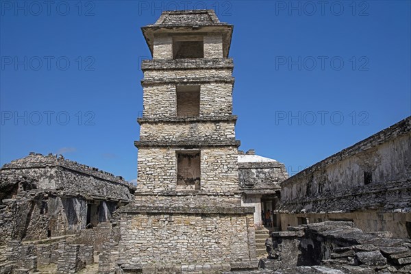
[[[63,190],[75,195],[105,199],[128,201],[132,199],[130,190],[134,188],[122,177],[51,154],[43,156],[31,153],[25,158],[5,164],[1,168],[1,174],[10,177],[12,182],[18,176],[33,178],[36,188],[42,190]]]

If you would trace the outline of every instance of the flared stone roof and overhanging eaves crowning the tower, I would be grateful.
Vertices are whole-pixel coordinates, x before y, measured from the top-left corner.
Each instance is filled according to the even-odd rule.
[[[187,36],[218,35],[221,36],[222,57],[227,58],[233,28],[233,25],[220,22],[214,10],[175,10],[162,12],[154,24],[141,30],[153,56],[156,42],[160,42],[164,36],[173,37],[173,40],[186,40]]]

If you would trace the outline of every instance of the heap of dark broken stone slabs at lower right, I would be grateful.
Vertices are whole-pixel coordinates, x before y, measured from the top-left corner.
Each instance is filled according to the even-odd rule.
[[[260,266],[271,270],[299,273],[298,266],[322,265],[336,273],[409,273],[411,266],[410,240],[366,234],[351,222],[288,227],[286,232],[273,232],[266,247],[269,258]]]

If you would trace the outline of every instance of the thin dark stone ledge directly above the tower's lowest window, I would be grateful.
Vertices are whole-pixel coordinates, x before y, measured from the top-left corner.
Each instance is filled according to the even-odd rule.
[[[240,147],[240,140],[192,140],[192,141],[134,141],[137,148],[140,147],[184,147],[184,148],[199,148],[199,147]]]

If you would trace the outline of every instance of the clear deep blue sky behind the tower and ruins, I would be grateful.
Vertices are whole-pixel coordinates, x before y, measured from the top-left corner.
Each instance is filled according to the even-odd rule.
[[[62,153],[136,179],[140,27],[162,9],[234,25],[240,149],[291,174],[410,116],[410,1],[320,2],[0,1],[0,164]]]

